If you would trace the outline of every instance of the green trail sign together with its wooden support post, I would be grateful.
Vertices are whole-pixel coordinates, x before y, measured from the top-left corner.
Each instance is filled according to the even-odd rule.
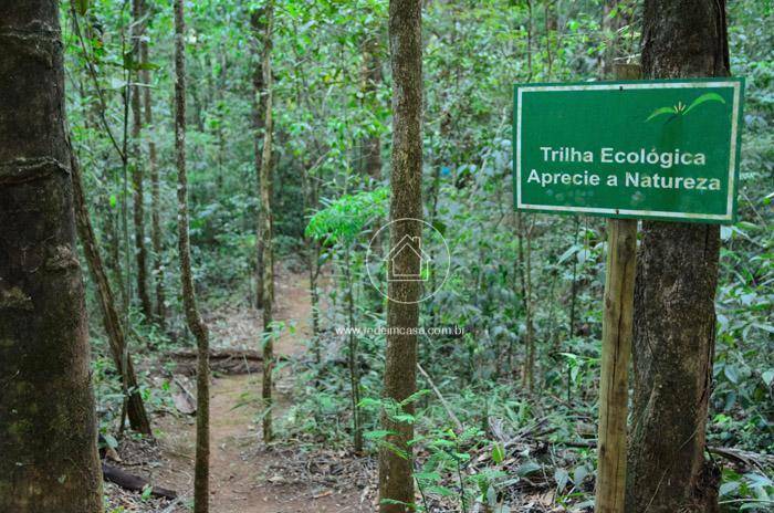
[[[515,86],[514,205],[605,216],[597,513],[624,513],[637,220],[732,223],[742,78]],[[668,264],[668,262],[665,262]]]

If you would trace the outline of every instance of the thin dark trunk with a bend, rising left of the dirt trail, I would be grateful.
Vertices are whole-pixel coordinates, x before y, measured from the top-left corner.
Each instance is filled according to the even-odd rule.
[[[197,344],[197,410],[196,468],[194,477],[194,511],[209,511],[210,460],[210,349],[207,325],[201,320],[191,273],[191,250],[188,233],[188,177],[186,174],[186,22],[184,0],[175,0],[175,149],[177,157],[178,248],[182,303],[188,328]]]

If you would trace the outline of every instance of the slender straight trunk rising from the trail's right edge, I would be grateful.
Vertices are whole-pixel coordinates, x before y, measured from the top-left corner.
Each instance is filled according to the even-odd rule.
[[[272,137],[274,118],[272,117],[272,74],[271,52],[273,48],[272,32],[274,30],[274,2],[269,1],[265,7],[265,33],[263,36],[263,86],[264,86],[264,122],[263,122],[263,150],[261,155],[261,172],[259,184],[261,188],[261,237],[262,248],[262,290],[263,290],[263,384],[261,397],[263,399],[263,440],[270,442],[272,430],[272,373],[274,371],[274,334],[273,334],[273,304],[274,304],[274,256],[272,254],[273,218],[271,205],[271,175],[272,175]]]

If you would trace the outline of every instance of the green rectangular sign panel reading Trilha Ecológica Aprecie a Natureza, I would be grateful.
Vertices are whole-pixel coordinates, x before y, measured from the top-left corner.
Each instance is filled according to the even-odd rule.
[[[515,87],[520,210],[730,223],[743,78]]]

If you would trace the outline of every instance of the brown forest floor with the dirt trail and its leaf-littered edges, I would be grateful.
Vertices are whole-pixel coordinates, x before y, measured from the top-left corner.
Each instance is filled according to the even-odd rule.
[[[311,335],[307,281],[284,273],[276,280],[275,320],[293,323],[283,329],[274,350],[290,362],[279,371],[274,419],[292,405],[294,360],[304,357]],[[247,306],[211,312],[213,349],[257,348],[260,313]],[[260,365],[260,363],[258,363]],[[253,365],[253,367],[255,367]],[[366,512],[374,510],[374,463],[343,451],[266,446],[261,439],[260,370],[215,373],[210,399],[210,493],[213,513]],[[176,376],[176,380],[182,379]],[[191,386],[190,389],[194,389]],[[276,420],[275,420],[276,422]],[[192,416],[165,415],[156,419],[156,444],[127,441],[119,447],[125,470],[153,484],[178,492],[177,501],[140,498],[106,484],[109,505],[126,512],[190,511],[194,489],[196,426]],[[108,512],[111,510],[108,509]]]

